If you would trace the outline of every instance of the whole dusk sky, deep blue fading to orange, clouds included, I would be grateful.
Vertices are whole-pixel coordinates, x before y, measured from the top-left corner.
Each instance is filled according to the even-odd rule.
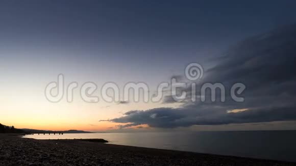
[[[2,1],[0,123],[88,131],[295,129],[295,1]],[[244,102],[53,103],[45,87],[145,82],[154,93],[191,62]],[[189,81],[188,81],[189,82]],[[202,82],[197,82],[201,85]],[[186,87],[184,90],[188,90]],[[198,91],[197,91],[198,92]],[[233,111],[232,110],[243,110]],[[228,113],[229,112],[229,113]]]

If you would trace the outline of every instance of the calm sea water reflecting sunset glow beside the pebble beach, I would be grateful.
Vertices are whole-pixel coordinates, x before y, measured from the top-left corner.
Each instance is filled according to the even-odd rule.
[[[215,131],[26,135],[33,139],[105,139],[109,144],[296,162],[296,131]]]

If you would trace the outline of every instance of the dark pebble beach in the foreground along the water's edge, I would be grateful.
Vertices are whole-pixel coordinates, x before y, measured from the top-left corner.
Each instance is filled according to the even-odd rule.
[[[296,163],[0,134],[0,165],[296,165]]]

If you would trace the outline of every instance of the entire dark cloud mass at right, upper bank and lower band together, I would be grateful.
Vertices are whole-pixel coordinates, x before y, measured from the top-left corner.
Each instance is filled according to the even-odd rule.
[[[235,82],[246,86],[244,102],[186,102],[181,108],[132,110],[110,122],[120,128],[147,124],[174,128],[296,120],[296,25],[249,38],[229,49],[200,82],[221,82],[226,89]],[[188,88],[185,88],[188,92]],[[199,91],[196,92],[199,95]],[[170,96],[164,102],[171,103]],[[233,109],[246,109],[233,111]]]

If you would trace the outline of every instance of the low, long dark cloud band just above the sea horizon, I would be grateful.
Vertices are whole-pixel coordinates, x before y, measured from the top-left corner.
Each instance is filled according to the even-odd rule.
[[[226,113],[223,112],[223,110],[217,110],[214,114],[203,114],[186,108],[155,108],[146,111],[137,111],[128,116],[115,118],[110,121],[116,123],[129,123],[126,125],[118,125],[117,127],[120,128],[141,124],[147,124],[151,127],[174,128],[188,127],[192,125],[290,121],[296,120],[295,108],[296,107],[262,108],[246,110],[238,113]]]

